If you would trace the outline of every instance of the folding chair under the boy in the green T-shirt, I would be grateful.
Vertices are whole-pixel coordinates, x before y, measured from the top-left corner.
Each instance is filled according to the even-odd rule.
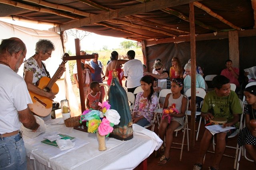
[[[240,121],[239,121],[239,128],[236,129],[236,131],[234,131],[228,138],[235,137],[236,135],[238,135],[239,131],[243,128],[242,120],[243,120],[243,115],[244,115],[244,104],[243,104],[242,100],[240,100],[240,99],[239,99],[239,103],[240,103],[240,106],[242,107],[242,114],[241,114]],[[214,137],[212,139],[212,146],[213,146],[213,152],[212,151],[207,151],[207,152],[214,153],[214,151],[215,151]],[[236,144],[236,147],[232,147],[232,146],[226,145],[226,148],[236,149],[235,156],[223,154],[223,156],[228,156],[230,158],[234,158],[235,159],[235,161],[234,161],[234,169],[236,169],[236,164],[237,164],[237,160],[238,160],[238,150],[241,150],[241,149],[238,146],[238,144]],[[203,162],[204,162],[204,160],[203,160]]]

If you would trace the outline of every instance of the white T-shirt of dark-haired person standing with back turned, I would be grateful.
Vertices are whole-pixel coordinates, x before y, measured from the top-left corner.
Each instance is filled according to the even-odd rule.
[[[124,76],[127,77],[127,88],[140,86],[140,79],[143,77],[143,65],[140,60],[132,59],[124,64]]]

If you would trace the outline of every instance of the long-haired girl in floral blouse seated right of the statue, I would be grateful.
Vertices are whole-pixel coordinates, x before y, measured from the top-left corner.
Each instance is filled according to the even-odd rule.
[[[143,92],[139,92],[136,96],[132,121],[144,127],[153,119],[154,111],[158,106],[158,98],[153,94],[153,80],[150,76],[143,76],[140,84]]]

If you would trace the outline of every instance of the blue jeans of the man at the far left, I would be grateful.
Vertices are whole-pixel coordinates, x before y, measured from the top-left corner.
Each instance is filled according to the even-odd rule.
[[[0,170],[26,169],[26,150],[20,134],[0,137]]]

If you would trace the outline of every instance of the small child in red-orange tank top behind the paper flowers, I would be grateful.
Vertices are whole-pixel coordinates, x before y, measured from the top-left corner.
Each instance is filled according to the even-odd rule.
[[[98,82],[91,82],[90,89],[92,90],[92,92],[90,92],[87,95],[86,109],[97,110],[99,108],[98,103],[102,102],[102,96],[100,93],[100,84]]]

